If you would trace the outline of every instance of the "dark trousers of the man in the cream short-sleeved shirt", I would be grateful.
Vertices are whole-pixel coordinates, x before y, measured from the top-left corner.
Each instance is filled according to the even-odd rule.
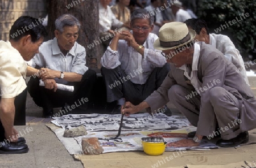
[[[24,126],[26,125],[26,99],[27,99],[27,89],[15,97],[15,118],[14,126]],[[0,96],[1,101],[1,96]],[[5,140],[5,129],[3,128],[2,122],[0,120],[0,142]]]

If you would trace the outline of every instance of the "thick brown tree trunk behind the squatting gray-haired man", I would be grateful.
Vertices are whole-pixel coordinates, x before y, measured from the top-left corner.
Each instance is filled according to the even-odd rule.
[[[100,68],[100,45],[94,43],[99,37],[98,3],[99,0],[49,0],[49,39],[55,37],[55,20],[59,16],[74,15],[81,23],[77,42],[86,50],[86,65],[89,68]]]

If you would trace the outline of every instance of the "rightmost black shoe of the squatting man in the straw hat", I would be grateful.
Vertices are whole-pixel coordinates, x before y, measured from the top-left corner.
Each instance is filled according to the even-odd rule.
[[[237,137],[229,140],[220,139],[217,141],[216,145],[219,147],[237,147],[240,144],[247,143],[249,141],[248,131],[240,133]]]

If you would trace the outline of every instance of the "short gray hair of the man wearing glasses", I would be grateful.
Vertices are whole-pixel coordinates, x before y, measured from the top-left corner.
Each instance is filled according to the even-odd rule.
[[[135,19],[148,19],[150,25],[154,24],[154,16],[152,16],[147,10],[144,10],[143,8],[134,10],[130,19],[131,24],[133,24]]]

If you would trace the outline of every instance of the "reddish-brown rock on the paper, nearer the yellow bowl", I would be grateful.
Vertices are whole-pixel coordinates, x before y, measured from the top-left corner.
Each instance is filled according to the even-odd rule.
[[[100,146],[97,137],[82,138],[82,152],[84,154],[101,154],[104,149]]]

